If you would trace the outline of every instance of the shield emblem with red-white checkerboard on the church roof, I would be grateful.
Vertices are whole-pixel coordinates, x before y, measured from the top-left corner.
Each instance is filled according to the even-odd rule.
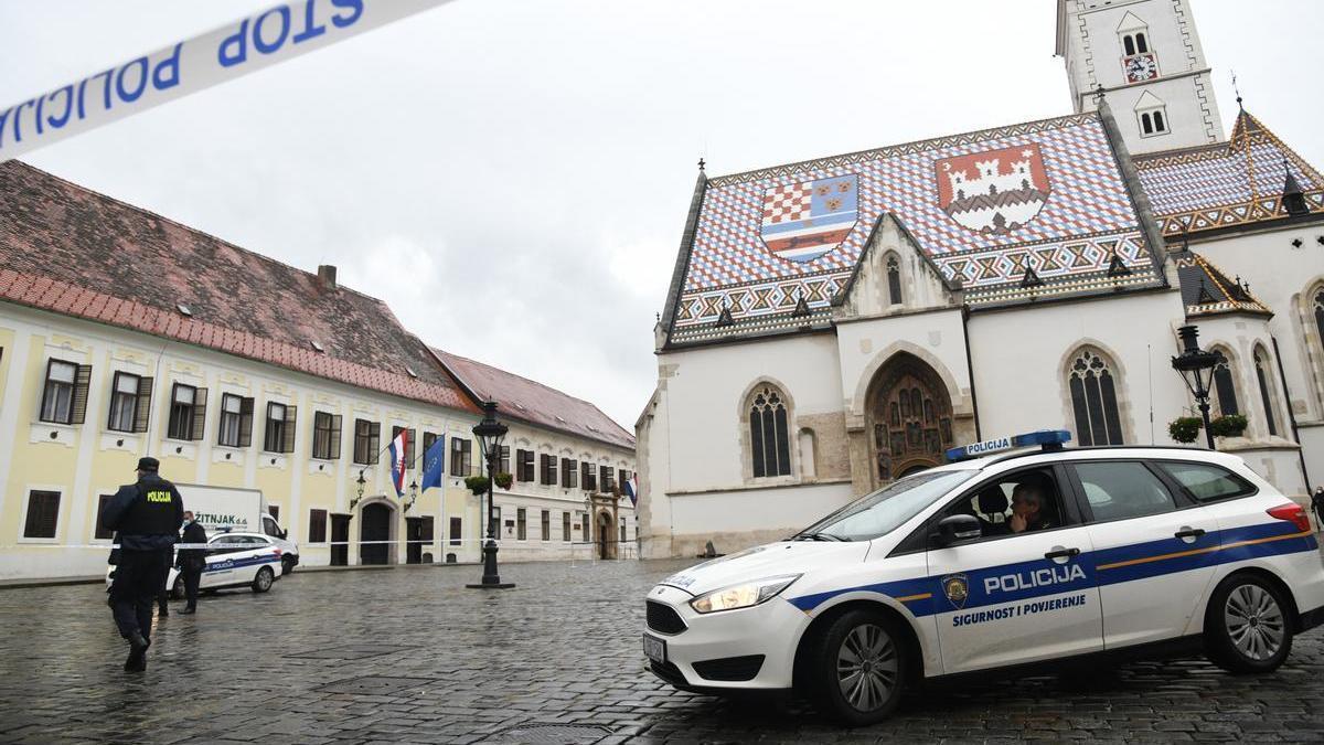
[[[835,251],[859,217],[859,176],[781,184],[763,192],[760,237],[773,256],[813,261]]]

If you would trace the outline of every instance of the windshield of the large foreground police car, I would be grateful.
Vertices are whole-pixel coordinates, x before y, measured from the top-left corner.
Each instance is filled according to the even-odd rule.
[[[794,538],[871,541],[891,533],[974,473],[974,471],[916,473],[855,500],[804,529]]]

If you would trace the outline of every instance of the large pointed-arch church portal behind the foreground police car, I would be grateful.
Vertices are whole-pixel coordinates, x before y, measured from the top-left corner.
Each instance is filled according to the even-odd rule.
[[[940,465],[952,447],[952,399],[920,358],[898,353],[869,388],[870,463],[882,484]]]

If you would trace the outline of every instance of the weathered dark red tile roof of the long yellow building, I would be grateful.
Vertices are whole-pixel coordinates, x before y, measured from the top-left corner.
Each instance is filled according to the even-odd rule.
[[[0,164],[0,300],[478,411],[380,300],[17,160]]]

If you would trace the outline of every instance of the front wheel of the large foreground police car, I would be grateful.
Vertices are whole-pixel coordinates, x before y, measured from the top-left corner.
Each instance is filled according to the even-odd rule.
[[[895,620],[873,610],[851,610],[816,640],[814,699],[824,713],[850,725],[882,721],[896,708],[907,679],[904,639]]]

